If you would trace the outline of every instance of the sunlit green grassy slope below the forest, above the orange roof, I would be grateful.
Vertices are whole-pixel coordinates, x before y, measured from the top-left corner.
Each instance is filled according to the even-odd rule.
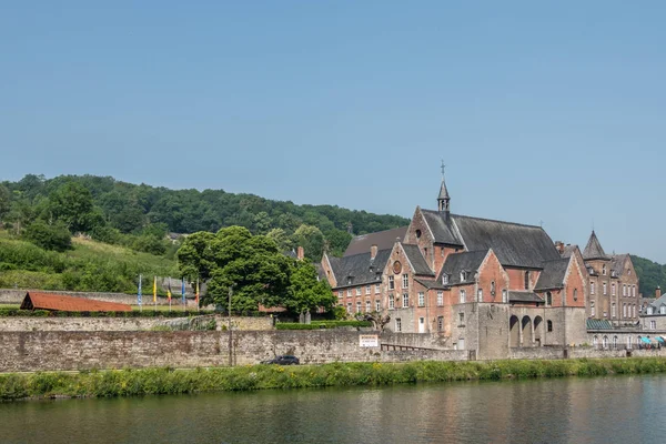
[[[83,239],[72,244],[46,251],[0,231],[0,287],[133,293],[140,273],[175,275],[175,261],[164,256]]]

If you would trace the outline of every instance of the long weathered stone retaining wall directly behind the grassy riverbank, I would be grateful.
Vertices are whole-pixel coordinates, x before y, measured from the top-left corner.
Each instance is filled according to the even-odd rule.
[[[234,364],[295,354],[303,364],[464,361],[466,351],[361,347],[360,332],[233,332]],[[383,334],[381,342],[395,341]],[[416,341],[414,340],[414,343]],[[229,332],[0,332],[0,372],[196,367],[229,363]]]

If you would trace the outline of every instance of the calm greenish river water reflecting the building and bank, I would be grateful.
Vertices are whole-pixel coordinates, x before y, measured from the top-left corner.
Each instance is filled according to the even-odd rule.
[[[0,443],[666,443],[666,375],[3,403]]]

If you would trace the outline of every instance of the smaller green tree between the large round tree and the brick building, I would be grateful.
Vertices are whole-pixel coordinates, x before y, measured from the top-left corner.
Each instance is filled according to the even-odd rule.
[[[314,265],[305,261],[294,261],[284,306],[294,313],[304,313],[317,307],[332,310],[335,302],[329,283],[317,280]]]

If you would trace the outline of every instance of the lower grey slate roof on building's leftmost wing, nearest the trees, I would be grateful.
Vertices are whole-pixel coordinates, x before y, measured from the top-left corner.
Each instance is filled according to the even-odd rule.
[[[382,272],[390,256],[391,250],[380,250],[374,260],[370,259],[369,251],[351,256],[329,258],[329,262],[335,274],[337,287],[344,287],[381,282]],[[351,283],[349,278],[352,278]]]

